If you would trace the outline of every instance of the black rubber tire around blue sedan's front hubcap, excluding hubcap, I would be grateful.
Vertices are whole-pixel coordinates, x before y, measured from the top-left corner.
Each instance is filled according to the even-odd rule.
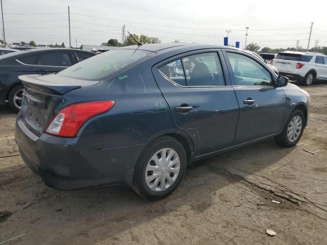
[[[301,117],[301,120],[302,120],[302,128],[301,128],[301,132],[299,134],[299,136],[297,137],[297,139],[293,142],[291,142],[288,137],[287,137],[287,131],[288,131],[288,127],[289,127],[289,124],[291,122],[291,120],[295,117],[295,116],[299,116]],[[302,133],[303,133],[303,129],[305,128],[305,125],[306,125],[306,118],[305,116],[303,115],[303,112],[298,110],[298,109],[295,109],[291,115],[289,116],[289,118],[287,119],[285,125],[284,125],[284,128],[283,128],[283,131],[281,134],[279,134],[278,136],[276,136],[274,139],[276,141],[277,144],[281,145],[281,146],[284,146],[284,147],[292,147],[294,145],[297,144],[297,142],[301,139],[301,136],[302,136]]]

